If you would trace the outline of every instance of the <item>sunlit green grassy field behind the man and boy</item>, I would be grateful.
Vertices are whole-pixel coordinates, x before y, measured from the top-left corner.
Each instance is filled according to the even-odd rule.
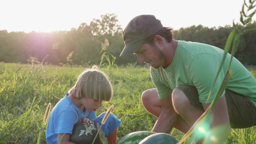
[[[84,67],[0,63],[0,143],[46,143],[44,113],[48,103],[53,106],[74,85]],[[133,64],[126,68],[101,68],[113,85],[114,96],[103,103],[96,115],[112,111],[122,123],[118,140],[135,131],[152,130],[157,118],[150,115],[140,100],[141,93],[154,88],[148,68]],[[256,70],[249,69],[256,77]],[[41,136],[40,136],[41,134]],[[176,129],[170,133],[177,140],[184,135]],[[188,143],[188,140],[185,142]],[[232,129],[226,143],[256,143],[256,127]]]

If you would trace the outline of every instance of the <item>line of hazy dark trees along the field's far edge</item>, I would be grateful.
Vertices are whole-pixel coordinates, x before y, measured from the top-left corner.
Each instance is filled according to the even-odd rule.
[[[246,29],[255,28],[256,21],[247,25]],[[208,28],[202,25],[173,30],[174,39],[199,42],[224,48],[229,33],[233,28]],[[115,14],[101,15],[101,19],[93,19],[90,24],[82,23],[70,31],[51,33],[7,32],[0,30],[0,61],[27,63],[31,58],[44,60],[48,64],[76,65],[100,64],[101,51],[115,56],[117,65],[133,63],[136,56],[119,55],[124,48],[122,31]],[[102,47],[108,41],[108,46]],[[235,57],[246,65],[256,65],[256,32],[241,36]]]

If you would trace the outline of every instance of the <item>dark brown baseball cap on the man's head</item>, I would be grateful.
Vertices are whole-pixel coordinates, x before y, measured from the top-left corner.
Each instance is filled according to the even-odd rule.
[[[133,18],[123,32],[124,49],[120,57],[136,52],[144,39],[155,34],[163,28],[160,20],[154,15],[139,15]]]

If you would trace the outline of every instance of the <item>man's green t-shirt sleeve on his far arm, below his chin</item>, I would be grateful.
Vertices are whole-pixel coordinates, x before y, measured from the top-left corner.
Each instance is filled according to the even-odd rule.
[[[154,72],[150,68],[150,76],[153,84],[156,87],[156,91],[159,99],[164,99],[172,93],[172,89],[163,83],[163,74],[160,72]]]

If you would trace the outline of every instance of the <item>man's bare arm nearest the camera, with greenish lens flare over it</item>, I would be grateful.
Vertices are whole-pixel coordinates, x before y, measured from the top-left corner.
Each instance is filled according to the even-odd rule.
[[[202,103],[204,110],[206,110],[210,104],[211,103]],[[206,137],[204,143],[223,143],[228,138],[231,131],[225,96],[222,96],[218,100],[210,113],[213,114],[213,121],[211,124],[210,135]]]

